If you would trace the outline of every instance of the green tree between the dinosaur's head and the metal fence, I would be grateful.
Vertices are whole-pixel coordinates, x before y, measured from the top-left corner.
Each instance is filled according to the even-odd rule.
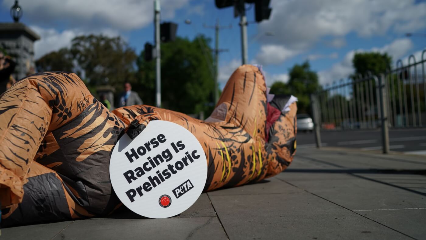
[[[315,93],[320,87],[317,72],[311,70],[311,65],[308,61],[302,64],[295,64],[288,72],[288,83],[275,82],[271,87],[271,93],[296,96],[298,98],[298,113],[310,113],[310,95]]]

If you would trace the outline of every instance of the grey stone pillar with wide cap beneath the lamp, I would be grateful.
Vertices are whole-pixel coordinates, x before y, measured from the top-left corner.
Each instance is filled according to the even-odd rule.
[[[16,61],[13,74],[16,80],[35,69],[34,42],[40,36],[23,23],[0,23],[0,48]]]

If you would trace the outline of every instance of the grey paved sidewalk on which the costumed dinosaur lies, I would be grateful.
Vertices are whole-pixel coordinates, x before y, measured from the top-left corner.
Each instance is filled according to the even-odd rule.
[[[178,217],[4,228],[6,239],[426,239],[426,157],[301,149],[261,183],[202,194]]]

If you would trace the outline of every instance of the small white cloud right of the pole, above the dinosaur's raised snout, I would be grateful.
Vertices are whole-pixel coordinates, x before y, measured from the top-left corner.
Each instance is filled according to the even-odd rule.
[[[264,65],[278,65],[298,53],[298,51],[290,50],[280,45],[263,45],[260,47],[260,52],[256,55],[256,61]]]

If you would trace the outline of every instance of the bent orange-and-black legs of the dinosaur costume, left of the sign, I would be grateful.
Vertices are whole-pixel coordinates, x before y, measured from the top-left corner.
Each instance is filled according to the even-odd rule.
[[[7,123],[0,127],[2,225],[32,216],[36,202],[53,214],[21,224],[107,214],[118,205],[108,163],[124,124],[75,74],[21,80],[1,96],[0,121]]]

